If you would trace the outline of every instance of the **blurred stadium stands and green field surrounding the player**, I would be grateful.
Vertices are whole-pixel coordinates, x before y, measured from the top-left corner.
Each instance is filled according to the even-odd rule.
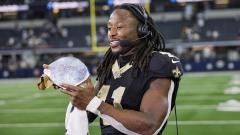
[[[239,0],[1,0],[0,135],[64,134],[68,97],[37,90],[42,64],[71,55],[94,76],[108,17],[124,2],[144,5],[181,59],[179,134],[240,134]],[[168,125],[176,134],[174,113]],[[100,134],[97,121],[90,132]]]

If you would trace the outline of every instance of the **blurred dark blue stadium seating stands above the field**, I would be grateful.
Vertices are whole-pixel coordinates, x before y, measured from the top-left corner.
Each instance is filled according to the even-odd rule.
[[[240,52],[240,18],[237,11],[208,11],[204,16],[200,14],[201,17],[190,20],[185,19],[181,12],[151,15],[166,39],[167,49],[180,57],[186,72],[225,71],[240,70],[240,56],[237,55]],[[96,18],[97,46],[108,45],[107,18],[107,16]],[[52,54],[61,56],[90,51],[92,36],[90,24],[90,19],[86,16],[58,20],[1,22],[0,78],[37,76],[37,73],[42,70],[41,64],[57,58]],[[212,48],[212,53],[216,55],[205,57],[204,47],[209,46]],[[217,51],[217,48],[224,49]],[[234,60],[228,56],[231,50],[236,54]],[[34,52],[33,56],[38,63],[22,68],[20,66],[24,63],[22,54],[28,51]],[[99,53],[95,55],[98,57]],[[14,70],[8,66],[11,61],[15,61],[17,68]],[[98,61],[90,62],[95,63],[95,66],[90,64],[89,68],[95,69]]]

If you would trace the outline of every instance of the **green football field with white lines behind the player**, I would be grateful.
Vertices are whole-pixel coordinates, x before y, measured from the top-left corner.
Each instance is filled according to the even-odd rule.
[[[37,81],[0,80],[0,135],[64,134],[68,96],[54,89],[39,91]],[[240,72],[185,74],[176,103],[179,135],[239,135],[240,106],[219,107],[240,100],[240,92],[224,94],[232,87],[240,87]],[[97,121],[90,125],[91,135],[100,135]],[[176,132],[173,111],[163,135]]]

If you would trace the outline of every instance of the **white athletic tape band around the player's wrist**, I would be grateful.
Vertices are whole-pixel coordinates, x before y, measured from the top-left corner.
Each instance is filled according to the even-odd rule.
[[[98,115],[99,114],[98,107],[101,105],[101,103],[102,103],[102,100],[95,96],[88,103],[86,110]]]

